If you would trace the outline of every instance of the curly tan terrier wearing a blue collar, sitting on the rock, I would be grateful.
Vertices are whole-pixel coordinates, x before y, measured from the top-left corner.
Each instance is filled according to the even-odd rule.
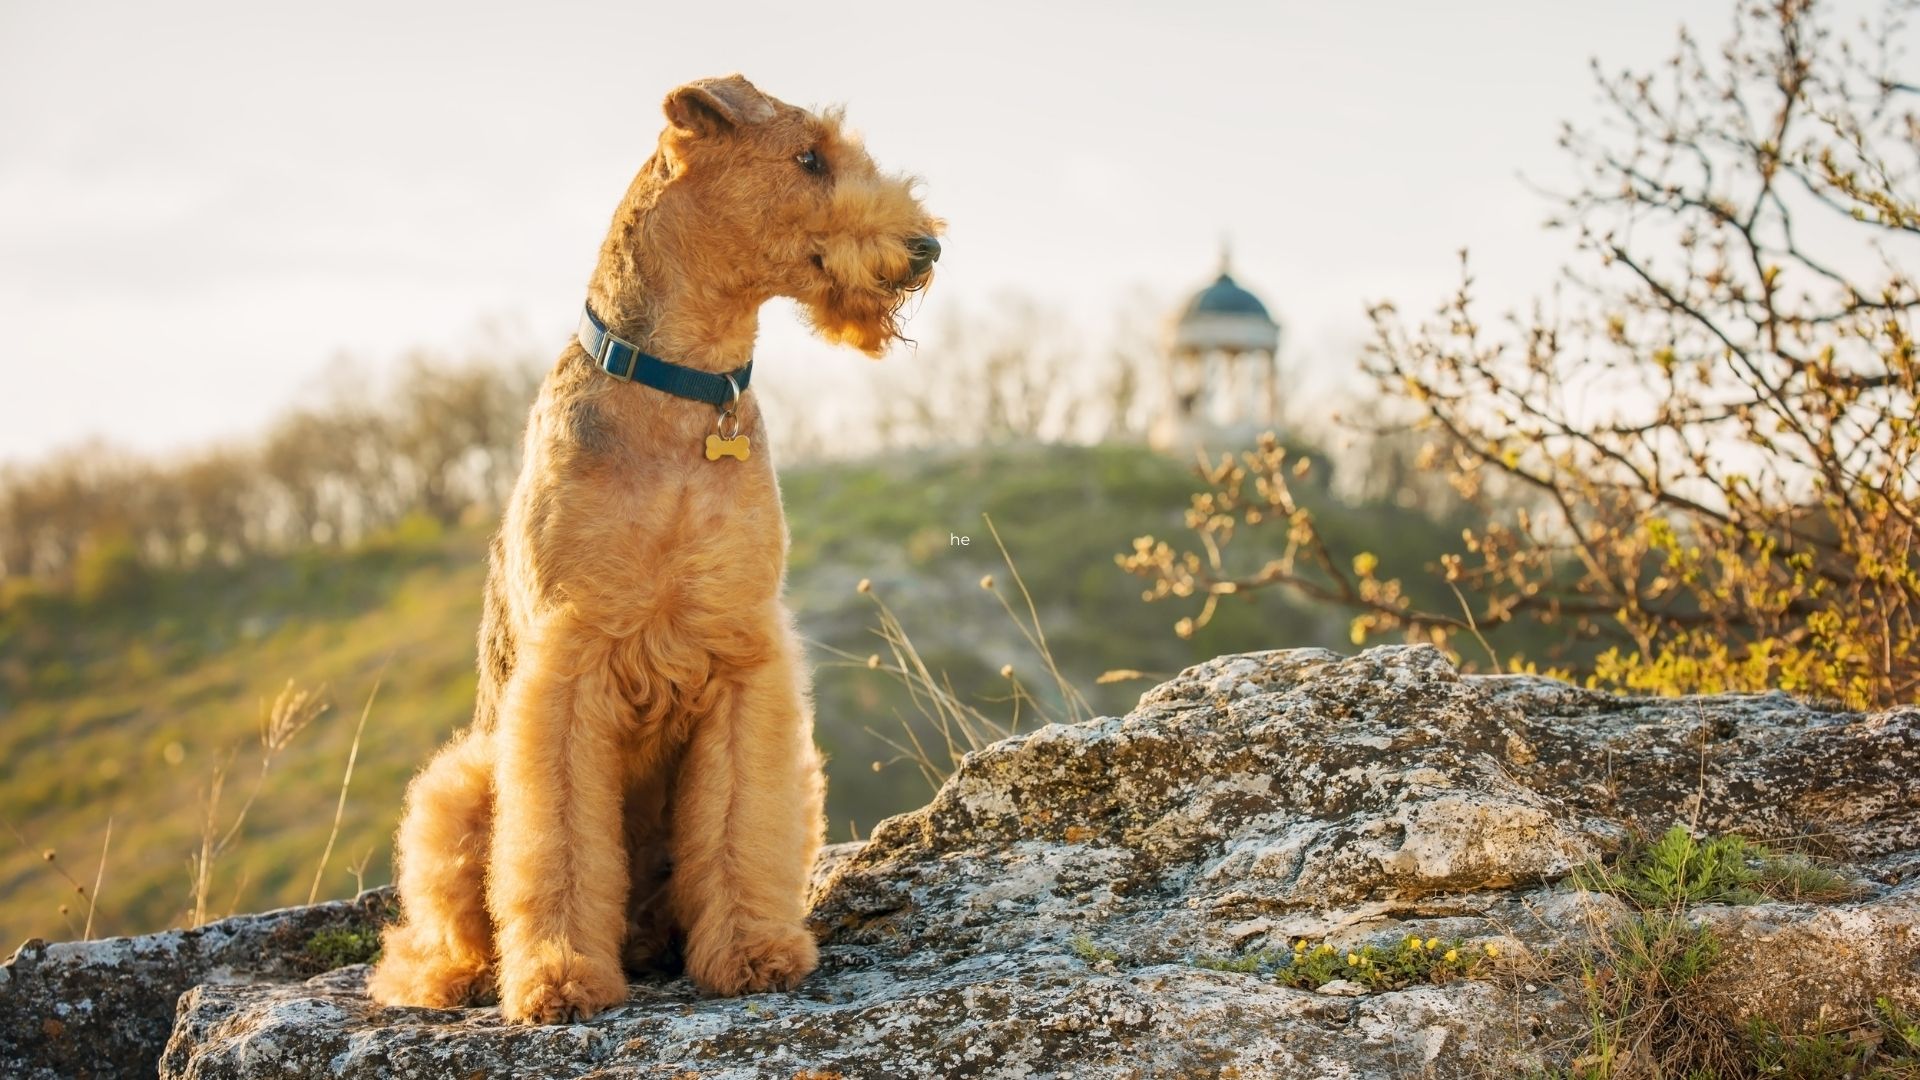
[[[712,994],[816,963],[824,778],[753,338],[791,296],[883,354],[943,223],[837,111],[739,75],[664,108],[528,419],[474,723],[407,790],[401,920],[369,982],[386,1005],[497,992],[509,1020],[559,1022],[674,951]]]

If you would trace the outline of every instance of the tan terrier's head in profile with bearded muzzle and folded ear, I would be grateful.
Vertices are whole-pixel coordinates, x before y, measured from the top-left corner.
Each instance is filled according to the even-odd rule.
[[[828,340],[887,352],[941,258],[945,223],[914,181],[881,173],[839,111],[789,106],[739,75],[687,83],[664,110],[655,211],[682,225],[701,273],[791,296]]]

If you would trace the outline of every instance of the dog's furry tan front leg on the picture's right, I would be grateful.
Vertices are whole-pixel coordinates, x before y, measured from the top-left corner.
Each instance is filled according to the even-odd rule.
[[[674,784],[668,890],[687,974],[712,994],[787,990],[818,963],[806,876],[824,780],[799,650],[774,623],[772,657],[695,717]]]

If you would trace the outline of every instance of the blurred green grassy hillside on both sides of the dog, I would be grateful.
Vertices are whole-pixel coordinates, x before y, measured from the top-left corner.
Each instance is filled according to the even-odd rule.
[[[1102,713],[1142,682],[1094,686],[1108,669],[1171,675],[1200,659],[1273,644],[1344,646],[1346,615],[1277,596],[1235,603],[1196,640],[1179,611],[1146,605],[1112,555],[1140,532],[1173,532],[1190,488],[1179,461],[1139,448],[1006,448],[797,467],[783,475],[793,530],[791,601],[818,646],[876,648],[872,578],[935,671],[962,696],[1004,692],[998,669],[1037,661],[979,577],[1004,567],[991,513],[1035,594],[1054,655]],[[1329,532],[1365,536],[1382,565],[1417,573],[1457,527],[1384,507],[1323,507]],[[232,847],[213,869],[209,915],[303,901],[326,844],[353,728],[374,682],[340,840],[319,894],[349,896],[390,876],[390,832],[411,771],[472,700],[472,632],[492,523],[426,521],[349,552],[257,557],[238,567],[111,582],[90,598],[15,590],[0,609],[0,940],[71,938],[84,901],[42,861],[90,886],[113,822],[94,932],[175,924],[190,909],[188,859],[204,799],[230,767],[227,828],[259,774],[265,703],[292,678],[332,707],[273,761]],[[952,536],[972,544],[954,546]],[[868,728],[897,732],[900,690],[816,648],[818,736],[829,755],[829,838],[866,836],[929,788]],[[29,847],[31,844],[31,847]],[[61,917],[58,907],[73,911]]]

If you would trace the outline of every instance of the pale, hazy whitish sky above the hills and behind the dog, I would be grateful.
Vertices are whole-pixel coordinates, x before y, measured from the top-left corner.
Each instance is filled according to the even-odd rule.
[[[1730,10],[0,0],[0,461],[240,438],[411,348],[557,356],[660,100],[728,71],[845,104],[924,179],[925,352],[1010,296],[1098,340],[1231,238],[1325,392],[1367,304],[1430,309],[1463,246],[1496,304],[1544,290],[1569,240],[1536,186],[1601,113],[1588,61],[1657,65]],[[756,359],[797,400],[872,377],[783,302]]]

